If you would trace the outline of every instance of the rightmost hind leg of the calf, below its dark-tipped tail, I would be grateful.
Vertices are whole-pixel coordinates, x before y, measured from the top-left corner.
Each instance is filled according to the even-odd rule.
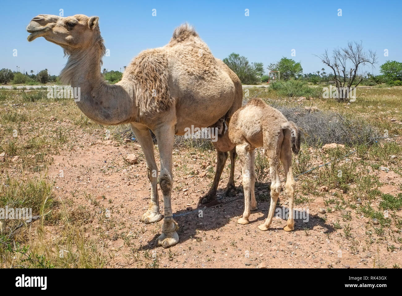
[[[285,131],[285,138],[281,147],[281,161],[283,164],[283,169],[285,170],[286,176],[286,195],[289,199],[289,218],[287,219],[287,225],[283,228],[286,231],[294,230],[293,225],[295,224],[293,217],[293,203],[296,189],[296,182],[293,178],[293,170],[292,170],[292,149],[291,149],[291,141],[290,141],[290,131]]]

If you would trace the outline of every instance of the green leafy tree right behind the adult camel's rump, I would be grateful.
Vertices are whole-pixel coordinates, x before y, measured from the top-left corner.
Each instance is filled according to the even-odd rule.
[[[250,64],[245,56],[240,56],[232,52],[227,58],[224,58],[224,63],[236,73],[243,84],[257,84],[264,74],[264,65],[261,62]]]

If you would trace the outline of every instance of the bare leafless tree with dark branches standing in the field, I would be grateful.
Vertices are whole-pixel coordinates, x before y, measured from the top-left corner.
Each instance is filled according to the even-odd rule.
[[[365,52],[362,42],[357,43],[356,41],[348,42],[345,48],[335,48],[332,56],[328,54],[328,50],[325,50],[324,54],[317,57],[334,72],[336,87],[350,88],[353,84],[357,87],[364,77],[359,72],[359,68],[377,63],[376,52],[371,50]],[[352,65],[349,70],[347,65]]]

